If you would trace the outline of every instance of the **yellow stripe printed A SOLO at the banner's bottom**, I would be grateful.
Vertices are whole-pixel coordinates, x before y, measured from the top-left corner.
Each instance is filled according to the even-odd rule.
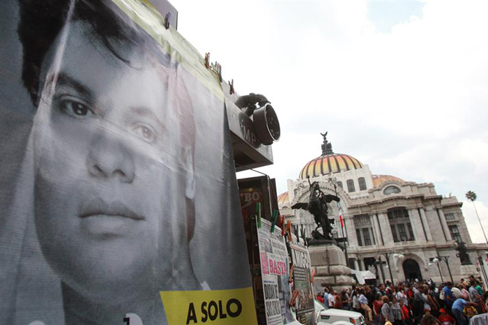
[[[169,325],[257,324],[252,287],[160,292]]]

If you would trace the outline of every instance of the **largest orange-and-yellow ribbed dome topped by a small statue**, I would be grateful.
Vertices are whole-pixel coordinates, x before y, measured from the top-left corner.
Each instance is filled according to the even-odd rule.
[[[343,153],[327,153],[307,162],[300,172],[300,179],[361,168],[363,163],[352,156]]]

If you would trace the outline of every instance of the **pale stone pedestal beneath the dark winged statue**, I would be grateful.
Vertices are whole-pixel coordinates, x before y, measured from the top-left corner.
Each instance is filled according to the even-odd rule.
[[[314,292],[323,292],[323,285],[342,289],[353,284],[351,269],[347,267],[346,257],[339,247],[333,244],[311,245],[308,250],[312,268],[317,270]]]

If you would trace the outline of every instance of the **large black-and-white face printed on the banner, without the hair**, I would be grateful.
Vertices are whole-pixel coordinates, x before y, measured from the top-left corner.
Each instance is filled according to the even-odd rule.
[[[36,143],[41,248],[63,282],[95,296],[87,291],[107,292],[121,281],[154,289],[156,257],[169,263],[174,245],[188,245],[168,75],[137,48],[117,50],[129,63],[89,24],[71,24],[49,123],[38,126],[45,129]]]

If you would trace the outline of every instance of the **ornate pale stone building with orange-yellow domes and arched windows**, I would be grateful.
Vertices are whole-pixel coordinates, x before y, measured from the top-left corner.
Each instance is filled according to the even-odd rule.
[[[291,209],[308,201],[310,177],[324,193],[341,199],[329,205],[329,218],[337,220],[333,236],[346,249],[351,269],[373,271],[381,282],[392,278],[395,283],[429,278],[457,282],[478,275],[476,262],[487,245],[471,242],[462,202],[438,195],[433,183],[372,174],[353,156],[334,153],[326,135],[321,156],[307,162],[298,179],[288,180],[288,191],[278,197],[287,220],[305,228],[306,236],[315,229],[310,213]]]

